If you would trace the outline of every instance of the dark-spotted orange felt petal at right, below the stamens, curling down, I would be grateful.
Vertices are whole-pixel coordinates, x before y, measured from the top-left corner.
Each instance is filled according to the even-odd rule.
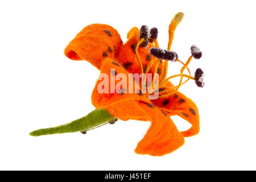
[[[171,82],[168,82],[167,85],[168,87],[172,86]],[[176,92],[168,97],[151,100],[151,102],[162,108],[168,115],[179,115],[181,118],[191,123],[192,126],[190,129],[181,132],[184,137],[191,137],[199,133],[199,111],[197,106],[182,93]]]

